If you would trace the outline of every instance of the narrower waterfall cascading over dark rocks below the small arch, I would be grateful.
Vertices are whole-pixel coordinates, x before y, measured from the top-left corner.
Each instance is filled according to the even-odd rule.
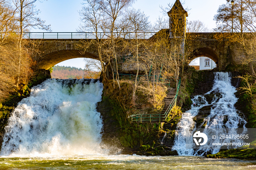
[[[194,131],[195,128],[201,128],[204,124],[203,132],[208,133],[207,130],[220,131],[223,128],[235,128],[243,127],[246,131],[246,121],[238,115],[238,111],[234,107],[237,102],[237,98],[234,95],[236,88],[231,85],[230,73],[216,72],[212,89],[206,94],[214,94],[211,103],[206,101],[204,95],[197,95],[192,100],[191,109],[182,114],[180,122],[177,124],[176,137],[174,140],[173,150],[177,150],[179,155],[203,155],[206,153],[215,154],[219,152],[221,147],[200,147],[186,148],[186,130]],[[199,109],[210,106],[210,115],[204,118],[200,127],[196,127],[193,118],[197,116]],[[224,132],[223,132],[224,134]],[[236,133],[233,133],[236,134]],[[210,135],[208,135],[210,136]],[[191,138],[192,139],[192,138]],[[211,140],[211,139],[210,139]],[[226,139],[227,141],[228,139]],[[219,142],[220,140],[215,140]]]

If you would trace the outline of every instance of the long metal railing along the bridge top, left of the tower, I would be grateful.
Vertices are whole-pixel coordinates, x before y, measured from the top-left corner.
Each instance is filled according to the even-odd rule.
[[[148,39],[156,32],[138,32],[137,36],[140,39]],[[98,32],[99,39],[110,37],[109,32]],[[27,39],[96,39],[95,32],[24,32],[23,38]],[[114,32],[114,38],[134,39],[134,32]]]

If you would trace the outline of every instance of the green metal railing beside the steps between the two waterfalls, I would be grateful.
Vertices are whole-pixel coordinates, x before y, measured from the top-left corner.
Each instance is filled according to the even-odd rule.
[[[176,95],[174,96],[172,102],[170,103],[169,107],[166,109],[165,113],[162,114],[155,114],[155,115],[132,115],[132,123],[151,123],[151,122],[161,122],[165,121],[169,113],[172,111],[172,108],[176,105],[177,103],[177,97],[178,97],[178,92],[180,89],[180,83],[181,83],[181,78],[178,82],[178,87],[176,90]]]

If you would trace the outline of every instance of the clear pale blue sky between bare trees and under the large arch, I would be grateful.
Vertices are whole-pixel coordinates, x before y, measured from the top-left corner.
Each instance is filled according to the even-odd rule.
[[[133,8],[140,9],[149,16],[153,24],[158,16],[162,16],[159,6],[168,7],[176,0],[137,0]],[[188,21],[200,20],[210,29],[215,28],[213,20],[219,5],[225,4],[226,0],[180,0],[184,8],[188,8]],[[80,24],[78,11],[82,9],[83,0],[41,0],[35,3],[37,9],[41,11],[39,16],[45,20],[45,24],[50,24],[52,32],[76,32]],[[168,17],[166,16],[168,19]],[[41,32],[42,30],[36,30]],[[58,65],[67,65],[84,68],[82,58],[64,61]]]

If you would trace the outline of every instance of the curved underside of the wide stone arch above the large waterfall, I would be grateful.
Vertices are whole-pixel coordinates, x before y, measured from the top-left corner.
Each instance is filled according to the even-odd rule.
[[[72,59],[72,58],[98,59],[98,57],[92,53],[86,52],[84,54],[80,54],[79,50],[74,50],[74,49],[59,50],[59,51],[54,51],[52,53],[48,53],[44,55],[41,61],[38,62],[38,67],[40,69],[48,70],[50,67],[56,65],[57,63],[60,63],[62,61],[65,61],[67,59]]]

